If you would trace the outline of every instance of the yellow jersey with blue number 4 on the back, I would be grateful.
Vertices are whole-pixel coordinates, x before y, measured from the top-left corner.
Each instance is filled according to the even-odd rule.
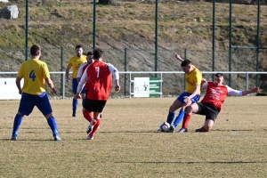
[[[18,77],[24,78],[23,93],[39,95],[45,92],[44,78],[50,74],[44,61],[30,59],[22,62]]]

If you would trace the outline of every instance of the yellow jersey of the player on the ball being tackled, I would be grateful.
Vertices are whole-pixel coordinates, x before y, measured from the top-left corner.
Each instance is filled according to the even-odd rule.
[[[186,88],[184,92],[193,93],[196,90],[195,85],[201,85],[202,73],[195,66],[192,66],[192,70],[189,74],[185,74]],[[198,92],[200,94],[200,90]]]

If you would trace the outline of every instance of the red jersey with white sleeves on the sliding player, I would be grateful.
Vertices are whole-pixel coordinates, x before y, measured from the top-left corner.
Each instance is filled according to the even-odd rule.
[[[214,82],[205,83],[202,89],[206,89],[206,94],[201,102],[211,104],[219,110],[222,109],[228,94],[242,96],[242,91],[234,90],[228,85],[216,85]]]

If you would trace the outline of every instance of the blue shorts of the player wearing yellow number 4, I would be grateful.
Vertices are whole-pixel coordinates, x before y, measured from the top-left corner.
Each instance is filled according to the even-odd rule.
[[[29,115],[35,106],[43,113],[44,116],[52,113],[50,101],[46,92],[39,95],[33,95],[28,93],[21,94],[19,112],[24,115]]]

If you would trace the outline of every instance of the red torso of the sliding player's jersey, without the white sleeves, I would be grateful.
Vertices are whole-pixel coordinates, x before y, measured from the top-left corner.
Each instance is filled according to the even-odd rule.
[[[227,95],[228,89],[226,85],[215,85],[214,82],[208,82],[206,94],[201,102],[211,104],[221,111]]]

